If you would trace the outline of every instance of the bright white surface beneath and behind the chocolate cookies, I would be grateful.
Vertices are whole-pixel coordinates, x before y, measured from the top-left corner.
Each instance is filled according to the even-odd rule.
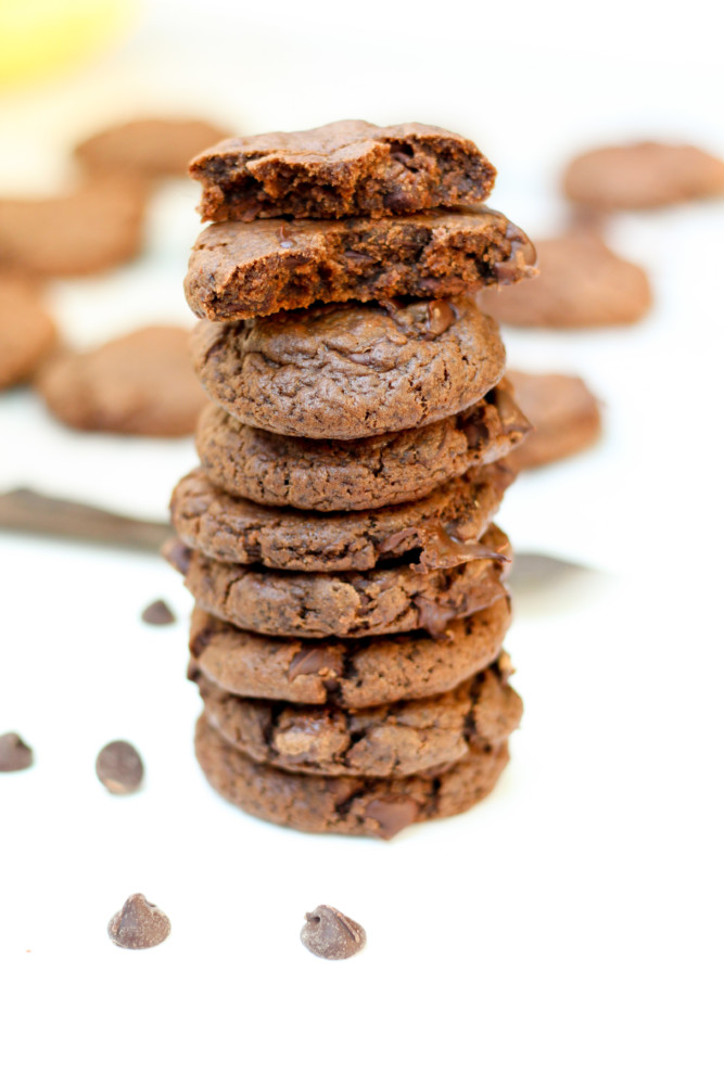
[[[478,139],[500,170],[494,205],[544,234],[562,217],[557,170],[581,145],[665,133],[724,153],[709,5],[671,20],[657,8],[651,25],[646,8],[609,4],[593,27],[563,3],[454,24],[440,5],[365,4],[363,20],[277,3],[255,25],[218,0],[157,3],[115,55],[3,103],[16,153],[0,181],[50,187],[69,139],[136,108],[194,104],[245,131],[416,117]],[[313,40],[316,22],[328,29]],[[158,197],[144,260],[55,289],[72,342],[188,320],[194,195],[179,183]],[[611,241],[651,275],[649,319],[507,334],[521,368],[587,376],[606,439],[520,480],[500,518],[519,549],[608,572],[518,600],[524,726],[499,788],[465,817],[383,844],[236,812],[192,756],[178,577],[151,556],[0,537],[0,729],[37,758],[0,777],[3,1082],[722,1080],[724,205],[624,217]],[[0,398],[0,488],[162,515],[193,458],[190,441],[73,434],[28,392]],[[140,622],[160,596],[176,626]],[[118,737],[147,764],[126,799],[93,775]],[[124,953],[105,923],[137,891],[173,934]],[[366,927],[361,956],[303,949],[319,903]]]

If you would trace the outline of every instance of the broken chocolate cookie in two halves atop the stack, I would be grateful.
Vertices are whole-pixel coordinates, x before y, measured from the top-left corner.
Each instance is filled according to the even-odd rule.
[[[354,120],[230,139],[190,170],[215,222],[193,247],[186,295],[208,320],[447,297],[532,273],[525,234],[474,206],[491,191],[493,166],[443,129]]]

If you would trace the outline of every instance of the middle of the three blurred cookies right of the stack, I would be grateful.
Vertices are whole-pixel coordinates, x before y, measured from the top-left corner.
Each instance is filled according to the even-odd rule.
[[[541,275],[516,290],[478,294],[480,307],[501,323],[531,328],[630,324],[648,312],[646,272],[622,260],[595,233],[581,231],[536,242]]]

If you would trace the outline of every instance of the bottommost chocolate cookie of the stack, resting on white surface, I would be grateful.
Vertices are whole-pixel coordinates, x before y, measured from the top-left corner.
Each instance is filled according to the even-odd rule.
[[[452,768],[402,779],[305,776],[258,765],[201,716],[195,750],[206,779],[247,814],[305,832],[390,840],[415,821],[461,814],[493,790],[508,763],[506,742]]]

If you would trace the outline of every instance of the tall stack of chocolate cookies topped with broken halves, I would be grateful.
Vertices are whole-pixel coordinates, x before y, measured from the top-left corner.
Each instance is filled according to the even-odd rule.
[[[533,272],[495,170],[422,125],[343,122],[196,157],[186,281],[212,403],[173,497],[196,600],[196,754],[245,810],[389,838],[494,786],[506,536],[529,425],[469,291]]]

